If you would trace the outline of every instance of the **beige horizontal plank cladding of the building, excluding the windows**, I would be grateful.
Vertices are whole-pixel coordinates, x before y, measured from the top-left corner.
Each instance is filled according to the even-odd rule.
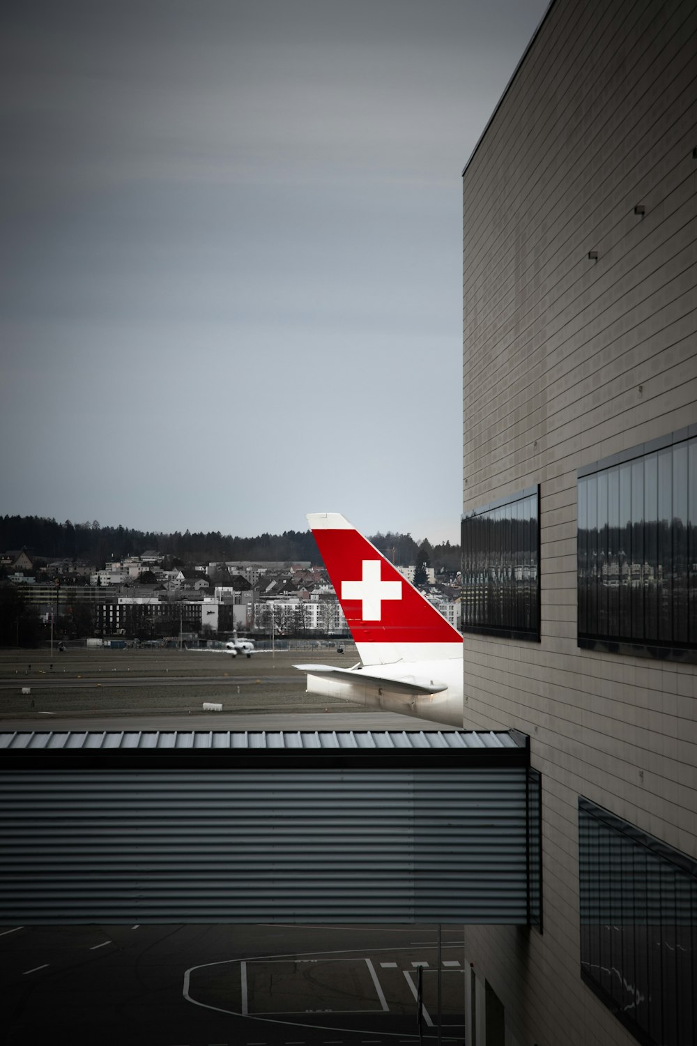
[[[556,0],[463,174],[463,511],[540,484],[540,643],[465,642],[465,728],[542,772],[544,933],[465,931],[520,1046],[634,1042],[580,978],[578,796],[697,856],[696,669],[578,647],[576,540],[578,469],[697,423],[696,54],[692,0]]]

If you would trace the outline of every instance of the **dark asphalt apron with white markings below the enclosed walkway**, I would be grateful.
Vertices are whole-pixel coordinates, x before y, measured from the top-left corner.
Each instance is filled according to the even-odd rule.
[[[437,1040],[435,927],[0,928],[0,1043],[316,1046]],[[443,928],[441,1038],[464,1039],[461,927]]]

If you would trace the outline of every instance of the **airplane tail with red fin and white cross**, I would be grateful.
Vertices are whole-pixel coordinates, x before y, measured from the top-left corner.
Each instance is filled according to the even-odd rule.
[[[307,692],[462,728],[462,636],[338,513],[307,516],[361,663],[298,664]]]

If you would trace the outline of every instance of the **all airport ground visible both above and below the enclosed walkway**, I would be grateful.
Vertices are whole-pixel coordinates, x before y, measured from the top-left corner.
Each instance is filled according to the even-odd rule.
[[[305,693],[296,662],[179,651],[0,652],[0,731],[414,730],[438,725]],[[51,664],[53,665],[51,667]],[[28,688],[29,693],[22,693]],[[220,712],[203,712],[217,701]],[[0,1043],[353,1046],[436,1042],[434,927],[0,927]],[[462,928],[445,935],[442,1042],[463,1041]]]

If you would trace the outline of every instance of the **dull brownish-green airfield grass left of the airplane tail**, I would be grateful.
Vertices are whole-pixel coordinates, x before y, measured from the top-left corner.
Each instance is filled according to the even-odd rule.
[[[260,652],[251,658],[178,650],[0,651],[0,721],[37,712],[101,713],[201,711],[204,701],[224,711],[318,711],[327,701],[305,692],[296,663],[355,664],[355,649]],[[29,693],[22,693],[28,687]],[[358,705],[334,702],[342,711]]]

